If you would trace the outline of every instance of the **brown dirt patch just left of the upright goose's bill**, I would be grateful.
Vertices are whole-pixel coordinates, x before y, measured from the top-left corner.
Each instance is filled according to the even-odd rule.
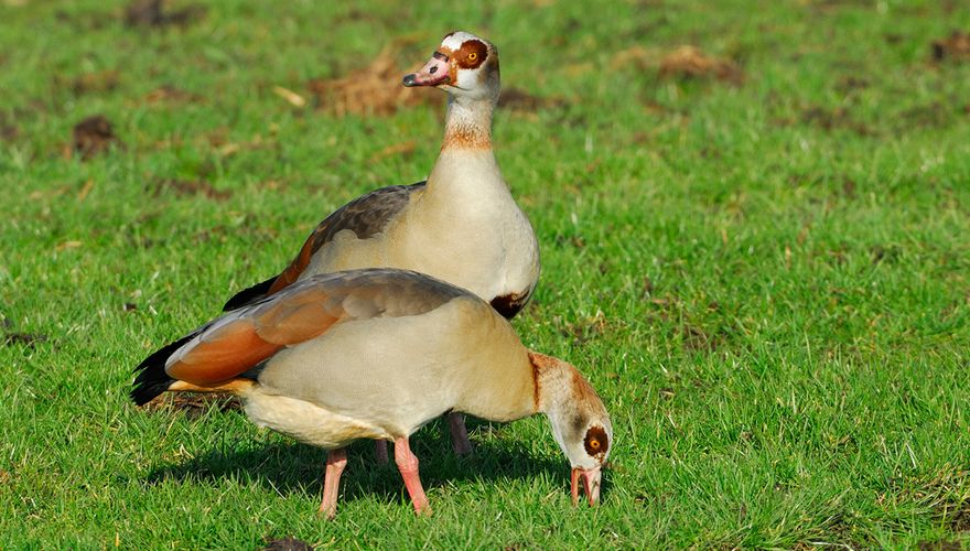
[[[406,71],[395,61],[396,45],[386,46],[366,67],[334,79],[308,83],[315,104],[337,117],[368,115],[387,117],[398,109],[429,102],[433,90],[406,88]]]

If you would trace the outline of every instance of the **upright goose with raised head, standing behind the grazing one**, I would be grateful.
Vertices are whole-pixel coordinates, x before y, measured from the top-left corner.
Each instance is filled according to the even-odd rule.
[[[498,52],[474,34],[453,32],[403,84],[449,94],[444,140],[428,181],[382,187],[344,205],[320,223],[287,269],[240,291],[224,310],[317,273],[380,267],[467,289],[508,318],[525,306],[539,280],[539,245],[492,150]],[[449,424],[455,452],[470,452],[462,417],[449,415]],[[386,457],[386,449],[378,454]]]

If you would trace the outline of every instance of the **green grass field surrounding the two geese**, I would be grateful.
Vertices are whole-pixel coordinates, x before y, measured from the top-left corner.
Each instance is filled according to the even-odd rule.
[[[931,47],[970,6],[435,3],[0,1],[0,548],[970,544],[970,52]],[[515,326],[600,391],[612,469],[574,509],[543,419],[467,458],[432,424],[432,518],[362,443],[327,522],[324,452],[138,410],[131,369],[427,176],[443,94],[334,79],[382,55],[397,90],[453,29],[503,56],[543,261]],[[72,151],[94,115],[117,139]]]

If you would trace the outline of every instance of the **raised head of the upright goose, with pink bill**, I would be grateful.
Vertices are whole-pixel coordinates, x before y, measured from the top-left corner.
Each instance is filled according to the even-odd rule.
[[[417,73],[405,76],[405,86],[433,86],[452,97],[498,99],[498,51],[485,39],[464,31],[448,34]]]

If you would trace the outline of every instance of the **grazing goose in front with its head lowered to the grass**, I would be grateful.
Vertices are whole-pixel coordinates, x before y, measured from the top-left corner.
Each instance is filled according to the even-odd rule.
[[[321,512],[336,510],[346,446],[391,441],[417,512],[430,512],[408,439],[448,411],[493,421],[542,412],[590,505],[613,429],[571,365],[528,350],[489,305],[406,270],[304,278],[200,327],[149,356],[131,397],[231,391],[259,425],[330,451]]]

